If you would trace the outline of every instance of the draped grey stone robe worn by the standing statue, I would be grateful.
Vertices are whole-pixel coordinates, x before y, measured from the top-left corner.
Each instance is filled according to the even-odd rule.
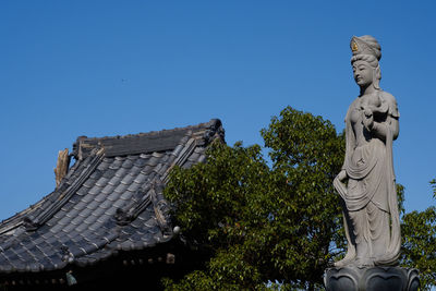
[[[395,133],[389,126],[392,119],[399,118],[399,113],[393,96],[385,92],[377,94],[386,113],[382,118],[378,116],[379,120],[376,120],[376,116],[374,119],[377,126],[386,126],[386,136],[380,138],[371,133],[367,143],[356,146],[356,135],[363,133],[355,133],[353,123],[363,122],[365,117],[362,100],[354,100],[346,117],[347,149],[342,169],[347,172],[348,184],[339,181],[338,177],[334,181],[344,206],[348,253],[343,260],[347,264],[363,257],[374,265],[395,265],[400,253],[401,234],[392,162]],[[361,129],[364,130],[364,126]],[[362,241],[365,241],[364,244]]]

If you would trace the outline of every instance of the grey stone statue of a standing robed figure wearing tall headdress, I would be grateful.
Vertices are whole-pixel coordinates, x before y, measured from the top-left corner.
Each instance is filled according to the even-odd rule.
[[[380,45],[365,35],[353,37],[350,46],[360,95],[347,112],[346,159],[334,181],[348,240],[347,255],[335,266],[391,266],[401,244],[392,165],[400,114],[396,98],[379,87]]]

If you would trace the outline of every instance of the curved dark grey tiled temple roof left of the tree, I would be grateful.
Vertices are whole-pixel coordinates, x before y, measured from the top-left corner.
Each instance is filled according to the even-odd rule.
[[[0,275],[87,266],[173,238],[162,196],[169,171],[204,160],[219,120],[136,135],[87,138],[75,163],[40,202],[0,223]]]

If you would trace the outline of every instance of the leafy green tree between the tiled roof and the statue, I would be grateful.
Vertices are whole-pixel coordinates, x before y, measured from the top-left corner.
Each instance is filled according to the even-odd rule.
[[[343,160],[334,125],[290,107],[262,131],[258,145],[210,146],[207,162],[175,169],[166,195],[183,235],[209,260],[168,290],[315,290],[340,255],[339,198],[331,181]]]

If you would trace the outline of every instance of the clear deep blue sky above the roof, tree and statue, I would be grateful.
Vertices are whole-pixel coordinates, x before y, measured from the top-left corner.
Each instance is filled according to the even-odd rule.
[[[0,219],[55,187],[59,149],[222,120],[263,145],[286,106],[338,131],[359,87],[349,41],[375,36],[397,97],[397,181],[407,210],[435,204],[435,1],[0,2]]]

